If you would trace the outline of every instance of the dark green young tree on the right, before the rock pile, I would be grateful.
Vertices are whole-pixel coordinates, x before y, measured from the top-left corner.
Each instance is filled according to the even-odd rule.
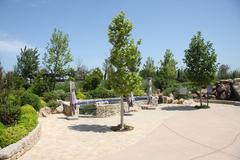
[[[189,48],[185,50],[186,73],[190,81],[200,88],[200,107],[202,107],[202,87],[214,80],[217,71],[217,54],[210,41],[205,42],[201,32],[193,36]]]

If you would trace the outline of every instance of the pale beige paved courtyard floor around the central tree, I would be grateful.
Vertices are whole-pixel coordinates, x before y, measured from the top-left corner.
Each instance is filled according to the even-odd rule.
[[[240,160],[240,107],[159,105],[131,112],[133,131],[112,132],[119,116],[41,118],[39,142],[21,160]]]

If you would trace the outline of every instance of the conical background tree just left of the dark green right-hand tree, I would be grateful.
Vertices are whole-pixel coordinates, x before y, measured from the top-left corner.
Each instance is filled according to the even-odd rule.
[[[170,49],[165,51],[163,61],[160,61],[160,68],[157,71],[155,86],[160,89],[172,87],[176,81],[177,62]]]

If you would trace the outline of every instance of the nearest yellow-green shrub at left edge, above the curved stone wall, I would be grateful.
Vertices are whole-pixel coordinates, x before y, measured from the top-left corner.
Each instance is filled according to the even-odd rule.
[[[9,144],[17,142],[25,135],[27,135],[27,130],[22,125],[7,127],[3,130],[2,134],[0,134],[0,146],[4,148]]]

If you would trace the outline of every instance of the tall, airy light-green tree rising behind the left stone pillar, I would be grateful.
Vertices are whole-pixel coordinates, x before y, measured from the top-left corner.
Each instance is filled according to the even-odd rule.
[[[64,78],[69,71],[69,63],[73,61],[69,49],[68,35],[60,30],[54,29],[50,43],[47,44],[47,53],[44,55],[43,63],[52,78],[52,87],[55,88],[56,79]]]

